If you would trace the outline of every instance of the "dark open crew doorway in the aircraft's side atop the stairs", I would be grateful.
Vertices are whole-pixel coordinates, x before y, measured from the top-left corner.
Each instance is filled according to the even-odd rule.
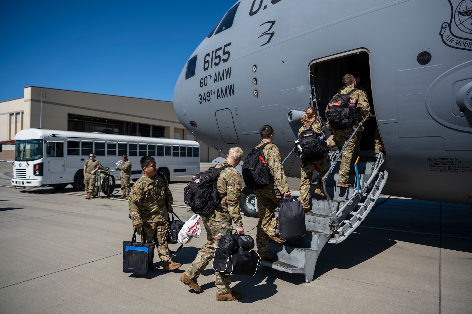
[[[310,86],[313,97],[316,95],[321,119],[326,123],[325,109],[329,100],[343,87],[342,79],[345,74],[353,74],[360,80],[356,86],[367,93],[371,115],[375,116],[375,107],[371,86],[370,55],[366,49],[356,49],[338,55],[320,58],[312,61],[309,66]],[[313,99],[313,106],[316,103]],[[360,141],[360,150],[374,150],[377,120],[370,116],[365,122]]]

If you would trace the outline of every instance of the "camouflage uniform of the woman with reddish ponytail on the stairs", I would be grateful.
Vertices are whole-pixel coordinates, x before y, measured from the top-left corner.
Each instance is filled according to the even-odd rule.
[[[305,131],[306,128],[303,125],[300,130],[298,130],[298,136],[300,136],[300,133]],[[316,121],[313,126],[312,130],[315,131],[318,135],[322,133],[321,131],[321,123],[319,121]],[[304,163],[302,162],[302,181],[300,182],[300,198],[298,199],[300,202],[303,204],[303,210],[305,212],[310,212],[310,187],[312,185],[312,178],[313,178],[313,172],[315,170],[315,167],[317,167],[320,171],[320,179],[318,180],[318,184],[316,185],[317,189],[320,189],[323,191],[323,182],[321,181],[321,178],[326,174],[326,172],[329,169],[329,154],[326,154],[326,156],[318,161],[314,161],[311,163]]]

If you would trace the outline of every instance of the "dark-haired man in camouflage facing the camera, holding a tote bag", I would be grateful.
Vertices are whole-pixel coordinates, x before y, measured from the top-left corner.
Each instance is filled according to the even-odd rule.
[[[141,158],[141,169],[144,174],[133,184],[128,199],[129,215],[134,228],[143,240],[157,247],[157,254],[162,261],[162,270],[169,271],[180,267],[179,263],[172,262],[167,244],[169,232],[169,212],[173,212],[173,198],[169,190],[166,176],[157,172],[154,157]],[[144,234],[141,234],[141,227]],[[151,271],[155,271],[152,267]]]

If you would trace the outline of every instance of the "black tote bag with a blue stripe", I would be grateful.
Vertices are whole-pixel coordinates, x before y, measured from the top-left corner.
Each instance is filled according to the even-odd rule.
[[[136,242],[136,231],[130,241],[123,241],[123,273],[147,273],[154,263],[154,243]],[[141,228],[144,235],[144,228]]]

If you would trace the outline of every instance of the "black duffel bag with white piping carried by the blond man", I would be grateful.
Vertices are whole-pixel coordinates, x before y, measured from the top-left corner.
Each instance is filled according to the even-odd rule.
[[[223,240],[225,244],[235,245],[235,236],[237,237],[238,246],[233,248],[231,252],[225,253],[220,247],[215,249],[213,269],[225,275],[254,276],[261,265],[261,256],[254,250],[254,239],[248,235],[235,233],[222,236],[220,241],[225,238]]]

